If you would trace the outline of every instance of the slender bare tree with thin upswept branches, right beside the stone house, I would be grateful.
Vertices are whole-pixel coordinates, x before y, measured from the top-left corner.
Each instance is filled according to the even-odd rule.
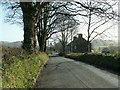
[[[112,6],[113,5],[115,5],[116,3],[114,3],[113,5],[110,5],[110,4],[108,4],[108,3],[106,3],[106,4],[108,4],[109,6],[107,6],[106,8],[100,8],[101,9],[101,11],[103,11],[103,13],[105,14],[105,16],[103,17],[100,17],[100,20],[98,21],[98,22],[96,22],[96,23],[93,23],[93,17],[95,17],[95,12],[93,11],[94,9],[93,9],[93,6],[95,7],[96,5],[98,5],[99,6],[99,4],[98,3],[96,3],[96,5],[94,5],[96,2],[87,2],[87,6],[88,6],[88,22],[87,22],[87,24],[88,24],[88,29],[87,29],[87,42],[88,42],[88,52],[91,52],[91,45],[90,45],[90,43],[91,43],[91,41],[92,40],[94,40],[97,36],[99,36],[99,35],[101,35],[101,34],[103,34],[104,32],[106,32],[107,30],[109,30],[112,26],[114,26],[114,24],[113,25],[111,25],[111,26],[109,26],[109,27],[107,27],[106,29],[103,29],[103,31],[101,31],[101,32],[97,32],[96,30],[99,28],[99,27],[101,27],[102,25],[105,25],[106,23],[108,23],[111,19],[116,19],[116,16],[117,16],[117,14],[112,10],[112,12],[109,12],[108,13],[108,15],[107,15],[107,12],[105,11],[106,9],[107,10],[111,10],[112,9]],[[102,2],[99,2],[99,3],[102,3]],[[105,4],[105,3],[104,3]],[[98,7],[97,6],[97,7]],[[101,5],[100,5],[101,6]],[[101,12],[99,12],[99,13],[101,13]],[[99,14],[98,13],[98,14]],[[93,17],[92,17],[93,16]],[[99,18],[98,16],[96,17],[96,18]],[[101,23],[102,22],[102,23]],[[97,23],[100,23],[99,25],[97,25]],[[94,27],[92,30],[91,30],[91,27],[92,26],[96,26],[96,27]],[[94,37],[92,37],[91,38],[91,36],[92,36],[92,34],[93,33],[96,33],[96,35],[94,36]],[[91,39],[90,39],[91,38]]]

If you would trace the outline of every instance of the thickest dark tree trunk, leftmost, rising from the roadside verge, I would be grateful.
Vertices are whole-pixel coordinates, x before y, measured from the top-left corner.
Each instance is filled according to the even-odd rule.
[[[23,12],[24,23],[24,42],[23,49],[32,53],[35,48],[36,35],[35,35],[35,10],[32,3],[20,2]]]

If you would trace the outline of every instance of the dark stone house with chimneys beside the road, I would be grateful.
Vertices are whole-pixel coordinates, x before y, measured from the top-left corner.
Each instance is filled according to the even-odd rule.
[[[82,34],[78,34],[78,37],[74,37],[66,49],[67,53],[85,53],[87,52],[87,40],[82,37]]]

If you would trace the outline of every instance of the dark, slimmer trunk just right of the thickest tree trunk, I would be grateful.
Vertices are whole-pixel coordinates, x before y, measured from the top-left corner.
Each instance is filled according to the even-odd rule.
[[[47,6],[44,7],[41,12],[40,12],[40,15],[41,15],[41,18],[43,17],[44,19],[41,19],[40,22],[39,22],[39,31],[38,31],[38,43],[39,43],[39,51],[41,52],[46,52],[46,37],[47,37],[47,30],[46,30],[46,27],[47,27],[47,16],[48,16],[48,11],[46,12],[47,10]],[[43,13],[45,12],[45,13]]]

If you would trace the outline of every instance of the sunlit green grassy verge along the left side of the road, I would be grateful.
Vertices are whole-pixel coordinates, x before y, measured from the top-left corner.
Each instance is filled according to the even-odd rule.
[[[36,83],[40,70],[48,61],[44,53],[12,57],[13,63],[3,62],[2,88],[32,88]]]

